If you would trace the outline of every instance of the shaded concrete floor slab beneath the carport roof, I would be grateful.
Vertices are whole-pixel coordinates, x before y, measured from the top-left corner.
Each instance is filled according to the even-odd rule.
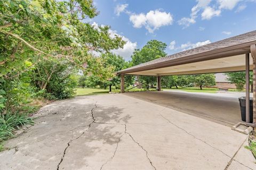
[[[238,97],[241,92],[209,94],[204,92],[150,91],[126,93],[126,95],[176,109],[227,126],[241,122]]]

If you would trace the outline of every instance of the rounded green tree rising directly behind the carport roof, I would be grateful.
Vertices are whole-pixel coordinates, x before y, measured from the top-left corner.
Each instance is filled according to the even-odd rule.
[[[164,51],[166,47],[167,45],[161,41],[158,41],[158,40],[148,41],[148,43],[145,46],[143,46],[141,49],[137,49],[134,51],[132,55],[132,65],[138,65],[141,63],[149,62],[151,60],[155,60],[157,58],[166,56],[167,54]],[[139,76],[137,76],[137,80],[139,81],[139,83],[140,81],[143,81],[147,89],[150,86],[154,87],[154,84],[156,83],[155,77],[142,76],[140,80]]]

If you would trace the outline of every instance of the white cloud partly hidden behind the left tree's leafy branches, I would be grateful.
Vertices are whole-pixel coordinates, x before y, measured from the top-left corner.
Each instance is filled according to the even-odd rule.
[[[98,23],[93,22],[92,25],[95,29],[99,29]],[[104,26],[104,25],[101,25],[101,26]],[[134,52],[134,50],[137,48],[137,42],[132,43],[132,41],[129,40],[128,38],[122,35],[119,35],[116,30],[111,30],[111,29],[109,30],[109,36],[111,38],[114,38],[116,35],[119,37],[122,37],[122,39],[126,41],[126,44],[124,45],[123,48],[113,49],[111,50],[111,52],[116,55],[122,56],[126,61],[131,60],[131,55]],[[96,55],[97,53],[93,52],[93,54]]]

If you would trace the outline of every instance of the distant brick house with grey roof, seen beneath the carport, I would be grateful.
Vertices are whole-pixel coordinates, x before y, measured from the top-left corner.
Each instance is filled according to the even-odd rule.
[[[215,81],[217,88],[227,88],[227,89],[235,89],[236,86],[234,83],[231,83],[227,80],[227,75],[225,73],[216,73],[215,74]]]

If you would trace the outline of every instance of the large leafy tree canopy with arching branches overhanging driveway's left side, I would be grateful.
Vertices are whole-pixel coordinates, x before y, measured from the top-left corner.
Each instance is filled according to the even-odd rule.
[[[109,26],[93,27],[87,18],[98,15],[92,0],[0,1],[0,78],[8,78],[25,61],[65,58],[87,72],[113,77],[92,52],[108,52],[124,45],[111,37]]]

